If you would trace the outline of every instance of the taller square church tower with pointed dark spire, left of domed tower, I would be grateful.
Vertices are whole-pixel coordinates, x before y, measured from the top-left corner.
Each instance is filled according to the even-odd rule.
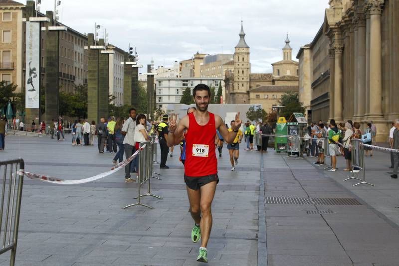
[[[240,40],[235,46],[234,52],[234,82],[233,90],[231,92],[231,103],[232,104],[248,104],[249,90],[249,46],[245,42],[245,33],[242,27],[241,20],[241,31],[239,33]]]

